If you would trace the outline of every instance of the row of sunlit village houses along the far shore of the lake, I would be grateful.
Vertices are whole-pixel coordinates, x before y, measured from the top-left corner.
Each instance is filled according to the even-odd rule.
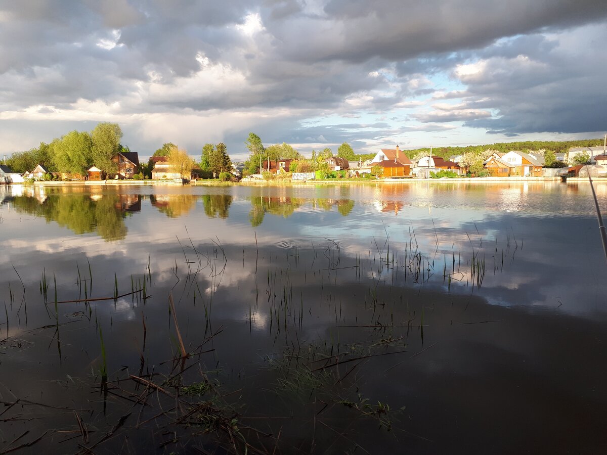
[[[489,153],[490,152],[490,153]],[[243,163],[229,163],[229,178],[224,181],[254,182],[260,180],[334,180],[334,179],[382,179],[398,180],[406,178],[458,178],[458,177],[517,177],[517,178],[568,178],[568,177],[607,177],[607,152],[603,147],[571,147],[568,152],[556,153],[554,163],[546,166],[541,152],[522,152],[510,150],[498,152],[487,150],[482,161],[482,170],[472,169],[464,162],[463,155],[451,155],[448,160],[429,153],[414,158],[407,156],[396,145],[393,149],[381,149],[375,157],[367,160],[346,160],[332,156],[319,158],[326,163],[322,170],[306,169],[300,160],[260,160],[256,174],[244,173]],[[101,182],[107,180],[150,180],[145,179],[137,152],[118,152],[113,158],[115,174],[106,175],[97,166],[91,166],[86,175],[64,172],[49,172],[47,167],[38,163],[29,172],[13,172],[10,166],[0,164],[0,183],[23,184],[34,181],[86,181]],[[315,160],[316,161],[316,160]],[[190,160],[189,165],[171,163],[168,156],[153,156],[147,164],[151,180],[156,183],[209,180],[219,175],[205,175],[200,166]],[[477,166],[478,168],[478,166]],[[302,171],[307,172],[302,172]],[[208,173],[207,173],[208,174]],[[223,174],[223,173],[222,173]]]

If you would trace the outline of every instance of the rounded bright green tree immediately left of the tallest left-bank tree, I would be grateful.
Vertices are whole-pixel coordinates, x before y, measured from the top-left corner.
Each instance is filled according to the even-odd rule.
[[[53,141],[53,162],[57,170],[68,174],[86,174],[93,164],[92,146],[89,133],[75,130]]]

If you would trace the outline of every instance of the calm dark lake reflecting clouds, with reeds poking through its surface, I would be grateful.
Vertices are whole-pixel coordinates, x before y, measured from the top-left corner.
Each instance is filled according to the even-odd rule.
[[[0,450],[607,451],[588,183],[0,187],[0,240]]]

